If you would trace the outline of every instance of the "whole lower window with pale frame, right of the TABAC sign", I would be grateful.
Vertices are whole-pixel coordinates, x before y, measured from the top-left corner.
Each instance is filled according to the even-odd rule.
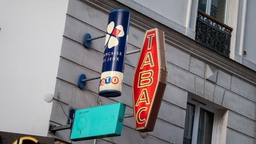
[[[183,144],[210,144],[213,141],[215,113],[201,104],[187,104]]]

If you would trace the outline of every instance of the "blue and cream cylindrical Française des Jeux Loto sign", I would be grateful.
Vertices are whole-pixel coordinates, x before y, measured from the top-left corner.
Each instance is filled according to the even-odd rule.
[[[99,95],[103,97],[121,95],[129,21],[130,11],[125,9],[110,11],[99,89]]]

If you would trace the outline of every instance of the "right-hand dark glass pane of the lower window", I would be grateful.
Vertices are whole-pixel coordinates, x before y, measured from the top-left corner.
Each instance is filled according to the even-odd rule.
[[[197,144],[212,143],[213,118],[213,113],[200,108]]]

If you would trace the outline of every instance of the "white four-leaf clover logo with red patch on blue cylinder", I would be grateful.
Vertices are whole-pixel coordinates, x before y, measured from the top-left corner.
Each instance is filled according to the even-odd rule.
[[[114,21],[111,21],[110,24],[107,26],[107,34],[105,39],[105,48],[111,49],[114,46],[119,44],[119,41],[116,37],[123,37],[124,31],[122,25],[117,25],[114,27]]]

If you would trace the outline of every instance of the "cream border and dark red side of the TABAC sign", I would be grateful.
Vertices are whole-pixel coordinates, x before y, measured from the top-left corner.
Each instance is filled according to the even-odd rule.
[[[157,52],[158,52],[158,83],[157,83],[157,88],[155,89],[154,95],[153,95],[153,100],[151,103],[151,106],[149,108],[149,114],[146,119],[146,124],[145,127],[137,127],[136,130],[140,132],[152,132],[153,128],[155,127],[155,122],[158,116],[159,108],[161,105],[162,97],[164,95],[165,91],[165,86],[166,86],[166,79],[167,79],[167,68],[166,68],[166,60],[165,60],[165,39],[164,39],[164,31],[159,30],[158,28],[153,28],[151,30],[147,30],[146,34],[144,36],[143,44],[142,47],[145,44],[146,36],[149,32],[151,31],[156,31],[156,47],[157,47]],[[142,54],[142,50],[140,51],[140,56]],[[140,59],[139,56],[139,59]],[[139,63],[139,59],[137,61],[137,65]],[[135,68],[135,72],[137,69],[137,65]],[[135,79],[135,74],[133,75],[133,85],[134,85],[134,79]],[[154,108],[152,109],[154,105]],[[133,91],[133,107],[135,107],[135,100],[134,100],[134,91]],[[133,108],[133,112],[135,114],[135,108]],[[136,116],[135,116],[135,125],[136,125]]]

